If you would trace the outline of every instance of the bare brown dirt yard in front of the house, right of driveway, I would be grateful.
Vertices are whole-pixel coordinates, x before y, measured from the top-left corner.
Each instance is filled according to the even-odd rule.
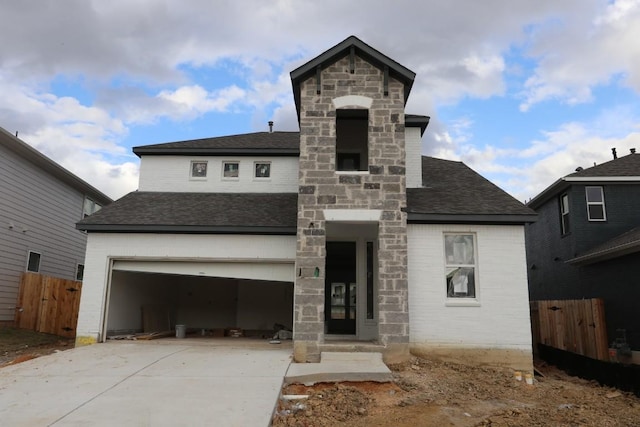
[[[414,358],[392,366],[392,383],[290,385],[273,425],[280,426],[640,426],[633,394],[537,363],[533,385],[508,369]]]

